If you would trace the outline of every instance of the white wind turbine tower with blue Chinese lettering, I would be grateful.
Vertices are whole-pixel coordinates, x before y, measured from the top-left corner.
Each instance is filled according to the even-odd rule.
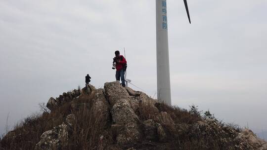
[[[166,0],[156,0],[156,24],[157,95],[158,100],[172,105]]]

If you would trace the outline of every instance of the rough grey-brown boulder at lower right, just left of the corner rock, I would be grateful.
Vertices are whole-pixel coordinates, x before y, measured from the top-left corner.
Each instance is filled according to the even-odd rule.
[[[215,119],[197,121],[188,128],[187,135],[193,139],[206,139],[199,141],[202,149],[210,149],[213,143],[218,143],[222,150],[255,150],[237,130]]]

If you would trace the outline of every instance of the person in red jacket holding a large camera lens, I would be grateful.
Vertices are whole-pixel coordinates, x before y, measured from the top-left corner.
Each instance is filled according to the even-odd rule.
[[[116,61],[116,80],[119,81],[120,78],[122,80],[122,86],[125,87],[125,79],[124,79],[124,73],[125,73],[125,65],[127,64],[126,59],[123,57],[123,55],[120,55],[120,51],[115,51],[115,58],[114,61]]]

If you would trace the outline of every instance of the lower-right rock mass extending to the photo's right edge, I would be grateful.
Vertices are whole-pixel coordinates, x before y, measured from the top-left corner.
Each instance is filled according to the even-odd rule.
[[[240,133],[231,127],[222,126],[214,119],[205,119],[198,121],[189,129],[189,135],[194,138],[212,137],[217,139],[222,144],[220,147],[224,150],[227,145],[235,145],[229,150],[267,150],[267,143],[264,140],[257,138],[257,136],[248,129],[243,129]],[[200,134],[195,134],[200,133]],[[208,139],[213,140],[213,139]],[[203,142],[205,145],[205,142]],[[209,147],[206,146],[208,149]]]

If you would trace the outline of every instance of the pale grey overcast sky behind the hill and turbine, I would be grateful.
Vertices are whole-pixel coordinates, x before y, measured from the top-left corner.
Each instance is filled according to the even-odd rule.
[[[167,0],[172,103],[267,131],[267,0]],[[85,75],[156,93],[155,0],[0,0],[0,134]],[[135,90],[135,87],[133,87]]]

